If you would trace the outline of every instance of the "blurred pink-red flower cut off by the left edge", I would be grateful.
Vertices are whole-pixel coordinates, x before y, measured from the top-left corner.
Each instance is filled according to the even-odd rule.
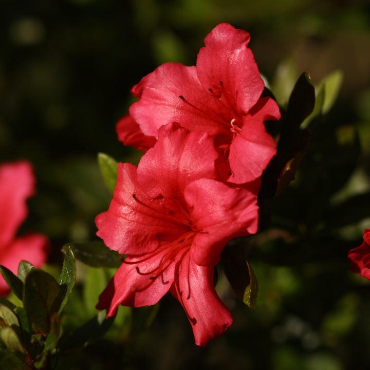
[[[0,264],[16,274],[22,260],[41,267],[47,259],[48,239],[41,234],[15,234],[27,217],[26,200],[34,194],[34,176],[29,162],[0,165]],[[0,276],[0,296],[9,287]]]

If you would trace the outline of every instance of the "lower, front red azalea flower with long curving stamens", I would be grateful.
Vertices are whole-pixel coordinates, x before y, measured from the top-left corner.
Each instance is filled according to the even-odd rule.
[[[206,133],[162,126],[138,168],[120,163],[109,210],[97,235],[119,253],[122,266],[97,308],[157,303],[170,290],[182,304],[195,342],[206,345],[231,325],[213,286],[213,268],[233,237],[257,230],[256,196],[217,181],[218,154]]]

